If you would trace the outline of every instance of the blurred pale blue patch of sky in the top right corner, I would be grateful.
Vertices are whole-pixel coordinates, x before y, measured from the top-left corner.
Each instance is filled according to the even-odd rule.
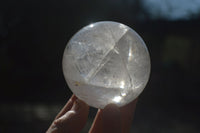
[[[142,0],[152,19],[190,19],[200,16],[200,0]]]

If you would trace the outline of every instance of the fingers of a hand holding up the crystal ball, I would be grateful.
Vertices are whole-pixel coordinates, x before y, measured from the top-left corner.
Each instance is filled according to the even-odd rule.
[[[99,109],[89,133],[128,133],[137,99],[121,108],[109,104]],[[46,133],[79,133],[87,122],[89,106],[75,95],[69,99]]]

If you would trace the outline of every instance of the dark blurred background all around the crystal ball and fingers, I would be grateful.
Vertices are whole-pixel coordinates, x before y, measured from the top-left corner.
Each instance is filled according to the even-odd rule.
[[[62,73],[68,40],[103,20],[135,29],[150,52],[131,132],[200,132],[200,0],[1,0],[1,133],[46,131],[72,95]]]

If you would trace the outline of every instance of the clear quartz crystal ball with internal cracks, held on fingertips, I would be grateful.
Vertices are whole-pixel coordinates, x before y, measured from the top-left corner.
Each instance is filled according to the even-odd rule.
[[[111,21],[90,24],[68,42],[63,72],[72,92],[88,105],[119,107],[143,91],[150,57],[142,38],[130,27]]]

